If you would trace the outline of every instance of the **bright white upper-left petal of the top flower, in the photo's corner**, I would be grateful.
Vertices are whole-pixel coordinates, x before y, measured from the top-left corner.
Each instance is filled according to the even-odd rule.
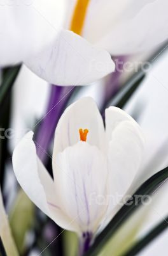
[[[0,65],[23,61],[52,42],[62,24],[64,7],[64,0],[48,0],[47,4],[39,0],[2,0]]]

